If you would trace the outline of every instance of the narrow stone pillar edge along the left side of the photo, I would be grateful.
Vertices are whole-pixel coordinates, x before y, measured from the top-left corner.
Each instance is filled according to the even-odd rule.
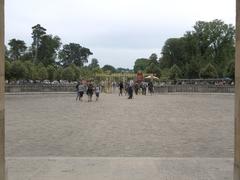
[[[4,0],[0,0],[0,180],[5,180],[4,49]]]

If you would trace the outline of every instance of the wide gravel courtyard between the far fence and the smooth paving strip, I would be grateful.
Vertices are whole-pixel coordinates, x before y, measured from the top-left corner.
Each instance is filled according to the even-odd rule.
[[[6,95],[6,155],[233,157],[234,95]]]

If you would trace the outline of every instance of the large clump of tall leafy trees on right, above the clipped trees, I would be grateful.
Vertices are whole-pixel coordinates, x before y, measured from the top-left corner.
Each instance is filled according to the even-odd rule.
[[[199,77],[208,63],[214,64],[219,77],[234,59],[235,29],[221,20],[198,21],[192,31],[180,38],[168,39],[162,49],[160,68],[176,64],[186,78]]]

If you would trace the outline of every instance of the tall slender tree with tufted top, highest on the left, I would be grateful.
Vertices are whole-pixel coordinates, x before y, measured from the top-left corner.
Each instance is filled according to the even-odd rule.
[[[46,34],[46,29],[42,27],[40,24],[37,24],[36,26],[32,27],[32,38],[33,38],[33,43],[32,43],[32,50],[33,50],[33,55],[34,55],[34,63],[36,63],[38,59],[38,48],[41,43],[41,38]]]

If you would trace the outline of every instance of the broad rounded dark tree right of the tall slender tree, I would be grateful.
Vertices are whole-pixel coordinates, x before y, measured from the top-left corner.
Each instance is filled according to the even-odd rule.
[[[88,62],[90,55],[92,55],[92,52],[88,48],[76,43],[65,44],[63,49],[59,51],[59,59],[63,67],[67,67],[70,64],[82,67],[84,63]]]

